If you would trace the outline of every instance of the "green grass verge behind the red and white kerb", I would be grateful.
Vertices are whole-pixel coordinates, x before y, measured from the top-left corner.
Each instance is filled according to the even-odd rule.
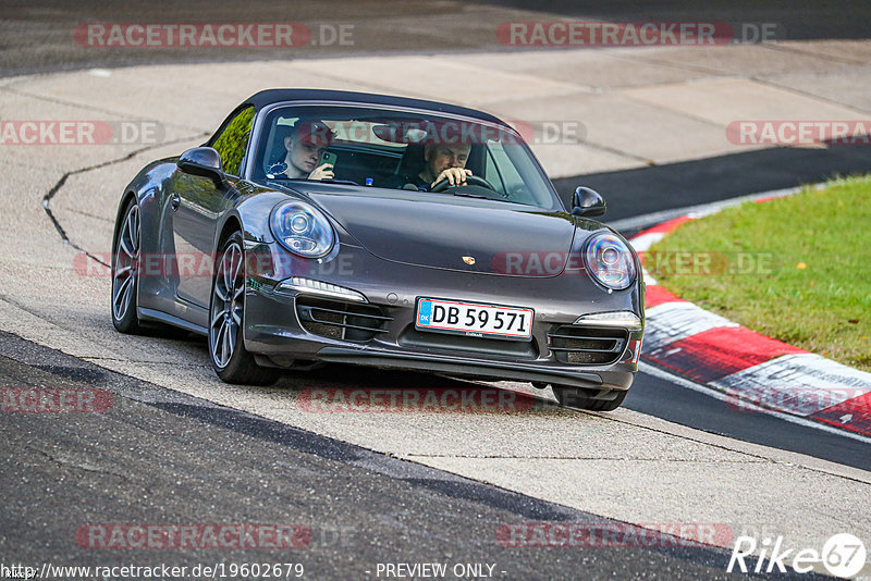
[[[682,298],[871,371],[871,176],[687,222],[645,264]]]

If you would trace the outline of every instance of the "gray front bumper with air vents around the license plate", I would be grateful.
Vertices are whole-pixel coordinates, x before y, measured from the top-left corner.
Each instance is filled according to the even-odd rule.
[[[345,247],[343,251],[358,255],[356,263],[369,268],[352,269],[343,275],[319,273],[317,279],[364,294],[369,300],[366,308],[377,309],[389,319],[382,330],[363,338],[359,333],[348,333],[347,336],[354,336],[352,339],[345,333],[327,336],[312,332],[312,324],[304,320],[311,297],[305,293],[277,290],[278,280],[291,273],[252,277],[245,299],[244,338],[246,348],[258,355],[258,360],[277,367],[357,363],[590,390],[624,391],[631,385],[642,329],[621,330],[625,333],[623,346],[604,364],[568,362],[565,356],[557,354],[559,349],[551,349],[554,339],[549,334],[572,325],[579,316],[589,312],[630,310],[640,313],[637,288],[622,294],[601,290],[601,296],[589,300],[555,300],[541,297],[569,296],[569,287],[577,282],[557,276],[514,279],[512,284],[505,284],[503,276],[394,264],[376,259],[359,248]],[[377,275],[370,275],[372,272]],[[506,287],[511,288],[510,293]],[[532,341],[477,339],[416,331],[415,307],[420,296],[535,307]]]

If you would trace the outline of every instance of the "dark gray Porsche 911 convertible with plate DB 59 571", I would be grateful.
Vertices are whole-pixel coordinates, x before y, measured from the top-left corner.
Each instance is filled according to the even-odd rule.
[[[208,337],[218,375],[342,362],[551,385],[612,410],[643,334],[638,256],[567,210],[522,136],[439,102],[272,89],[126,186],[112,322]]]

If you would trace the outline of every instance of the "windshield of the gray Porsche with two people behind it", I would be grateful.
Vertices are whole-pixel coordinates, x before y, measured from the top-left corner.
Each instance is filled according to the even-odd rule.
[[[268,112],[259,135],[254,180],[319,180],[562,209],[529,148],[504,125],[420,111],[286,106]],[[438,180],[452,168],[467,174],[465,185]]]

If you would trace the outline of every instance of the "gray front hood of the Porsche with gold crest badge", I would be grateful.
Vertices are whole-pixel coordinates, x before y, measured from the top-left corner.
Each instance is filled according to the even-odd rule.
[[[555,276],[576,231],[565,212],[507,202],[404,191],[306,194],[373,255],[418,267]]]

